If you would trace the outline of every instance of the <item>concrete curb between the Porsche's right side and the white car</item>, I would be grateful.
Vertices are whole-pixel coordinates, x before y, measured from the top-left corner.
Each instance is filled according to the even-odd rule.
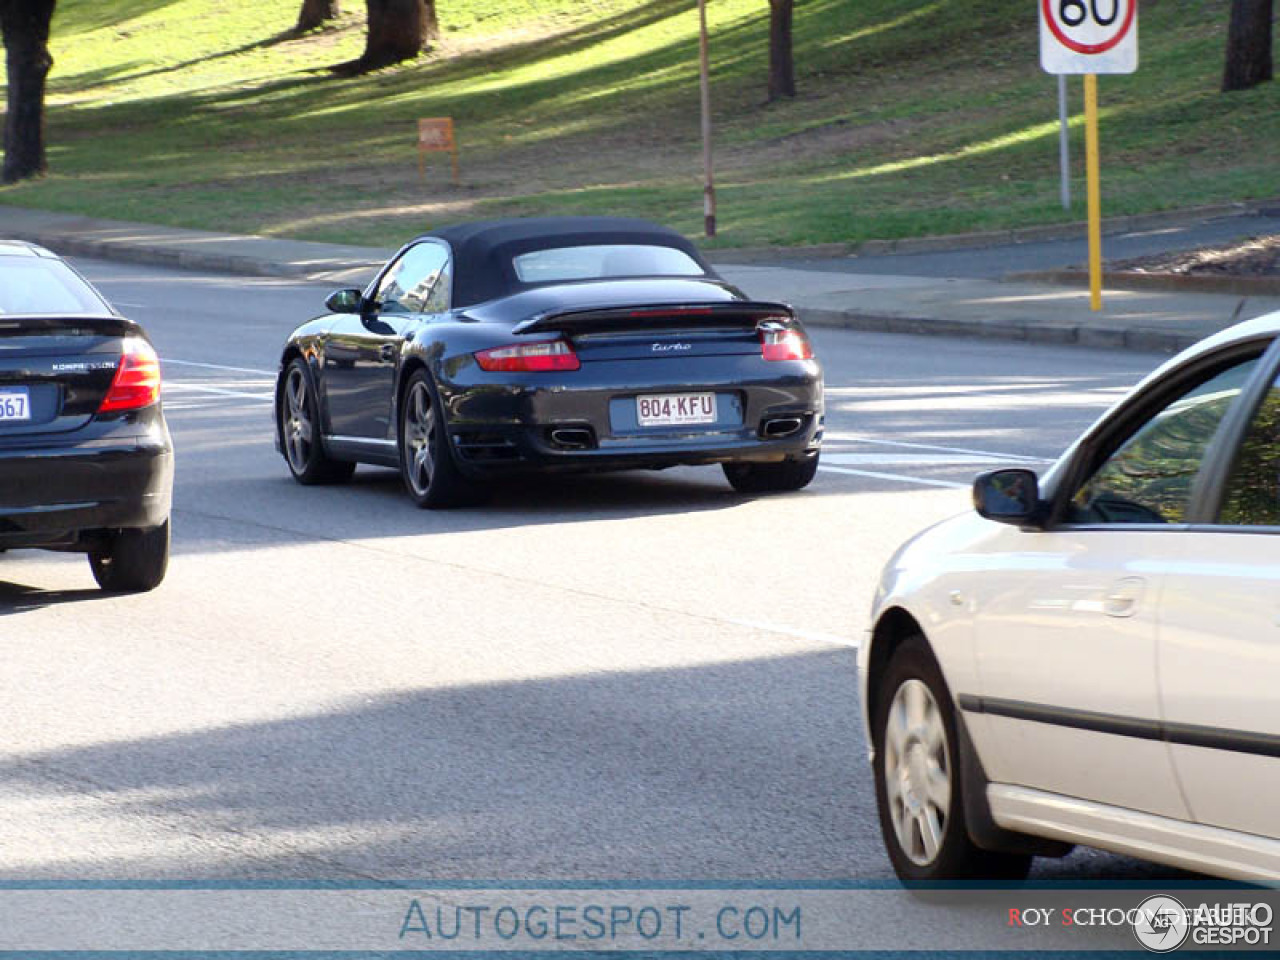
[[[928,337],[1019,340],[1059,346],[1130,349],[1143,353],[1178,353],[1197,343],[1203,334],[1146,329],[1124,325],[1076,324],[1061,321],[989,317],[984,320],[929,319],[892,314],[865,314],[858,310],[797,307],[800,320],[809,326],[833,326],[868,333],[901,333]]]

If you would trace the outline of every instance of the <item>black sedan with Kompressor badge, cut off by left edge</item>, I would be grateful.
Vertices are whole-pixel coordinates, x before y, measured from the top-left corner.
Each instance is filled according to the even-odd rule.
[[[172,494],[142,328],[54,253],[0,241],[0,552],[87,553],[102,589],[151,590]]]

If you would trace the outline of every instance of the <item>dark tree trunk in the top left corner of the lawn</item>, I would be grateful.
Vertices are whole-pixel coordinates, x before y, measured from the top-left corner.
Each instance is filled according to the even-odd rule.
[[[4,124],[5,183],[45,173],[45,81],[54,58],[49,55],[49,23],[55,0],[0,0],[0,36],[4,37],[8,102]]]

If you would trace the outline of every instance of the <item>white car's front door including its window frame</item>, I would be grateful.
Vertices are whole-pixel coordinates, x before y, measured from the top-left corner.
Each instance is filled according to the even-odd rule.
[[[1161,739],[1158,603],[1204,452],[1261,351],[1153,383],[1080,445],[1047,529],[1010,527],[983,557],[974,639],[993,780],[1189,819]]]

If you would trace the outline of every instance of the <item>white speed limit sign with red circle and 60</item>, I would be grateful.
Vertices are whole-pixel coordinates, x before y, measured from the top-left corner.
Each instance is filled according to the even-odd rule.
[[[1138,69],[1138,0],[1039,0],[1039,6],[1046,72]]]

